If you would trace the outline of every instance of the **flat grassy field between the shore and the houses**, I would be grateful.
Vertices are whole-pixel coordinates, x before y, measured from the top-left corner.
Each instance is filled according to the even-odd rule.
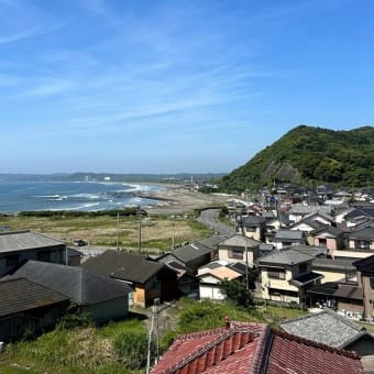
[[[84,239],[89,246],[138,248],[138,217],[7,217],[0,226],[11,230],[32,230],[61,239],[73,245],[75,239]],[[173,243],[194,242],[207,238],[210,230],[188,215],[188,218],[169,219],[152,216],[141,221],[142,248],[169,250]],[[117,243],[118,240],[118,243]]]

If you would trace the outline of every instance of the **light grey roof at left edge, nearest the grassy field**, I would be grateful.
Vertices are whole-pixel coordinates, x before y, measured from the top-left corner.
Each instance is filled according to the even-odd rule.
[[[55,245],[65,245],[65,243],[61,240],[53,239],[32,231],[0,233],[0,253],[11,251],[25,251]]]

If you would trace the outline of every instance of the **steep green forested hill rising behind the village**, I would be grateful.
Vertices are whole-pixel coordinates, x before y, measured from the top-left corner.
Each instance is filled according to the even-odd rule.
[[[224,176],[223,190],[277,183],[361,187],[374,184],[374,128],[350,131],[299,125]]]

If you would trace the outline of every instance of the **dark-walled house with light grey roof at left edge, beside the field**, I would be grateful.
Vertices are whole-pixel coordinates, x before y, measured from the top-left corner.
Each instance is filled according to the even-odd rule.
[[[32,231],[0,233],[0,277],[28,260],[66,263],[66,244]]]

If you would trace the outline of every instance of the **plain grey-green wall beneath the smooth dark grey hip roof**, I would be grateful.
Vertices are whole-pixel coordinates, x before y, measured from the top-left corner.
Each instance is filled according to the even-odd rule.
[[[90,305],[86,310],[97,323],[106,323],[125,317],[129,314],[128,295],[103,302]]]

